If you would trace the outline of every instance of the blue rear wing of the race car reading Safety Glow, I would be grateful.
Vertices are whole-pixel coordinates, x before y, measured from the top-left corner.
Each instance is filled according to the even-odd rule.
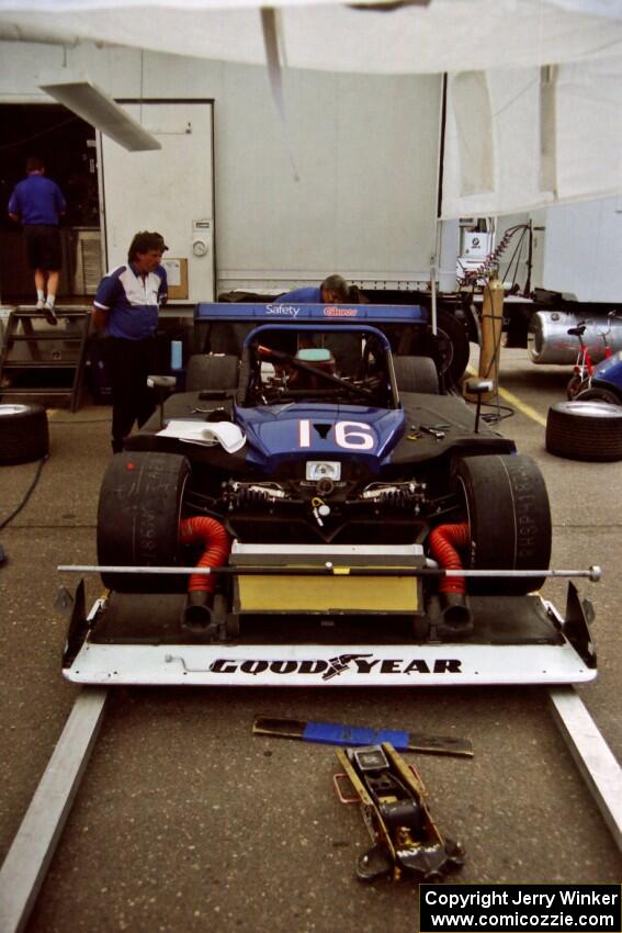
[[[244,302],[200,302],[195,305],[197,323],[229,321],[276,324],[279,322],[364,321],[367,324],[427,324],[428,310],[419,304],[247,304]]]

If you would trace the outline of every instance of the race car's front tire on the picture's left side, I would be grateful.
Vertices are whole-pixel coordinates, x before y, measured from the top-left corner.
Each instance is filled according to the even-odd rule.
[[[109,463],[98,509],[98,560],[104,566],[176,566],[179,522],[190,475],[185,457],[127,451]],[[102,573],[120,593],[183,592],[188,577],[173,574]]]

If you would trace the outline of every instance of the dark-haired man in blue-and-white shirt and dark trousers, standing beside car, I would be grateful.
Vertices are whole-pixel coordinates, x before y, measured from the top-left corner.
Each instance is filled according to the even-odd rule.
[[[137,233],[127,265],[104,276],[93,301],[93,323],[108,338],[113,453],[123,450],[134,421],[143,427],[155,408],[147,376],[154,371],[158,311],[167,301],[167,272],[160,262],[165,249],[159,233]]]

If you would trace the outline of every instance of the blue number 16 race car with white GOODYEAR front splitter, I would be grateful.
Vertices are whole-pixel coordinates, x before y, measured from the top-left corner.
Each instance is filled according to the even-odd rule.
[[[595,676],[578,597],[570,639],[532,595],[551,554],[542,475],[441,393],[431,357],[394,355],[416,308],[307,305],[274,323],[270,305],[211,307],[237,315],[241,352],[192,357],[186,391],[112,458],[98,518],[111,593],[75,611],[67,676]]]

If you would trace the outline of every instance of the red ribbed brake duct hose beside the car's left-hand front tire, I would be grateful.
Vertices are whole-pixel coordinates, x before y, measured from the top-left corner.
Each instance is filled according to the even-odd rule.
[[[208,516],[185,518],[179,525],[179,540],[182,544],[203,544],[197,567],[223,566],[229,555],[229,536],[225,527]],[[210,574],[193,573],[188,584],[188,599],[183,610],[183,621],[190,629],[204,631],[212,621],[212,594],[216,578]]]

